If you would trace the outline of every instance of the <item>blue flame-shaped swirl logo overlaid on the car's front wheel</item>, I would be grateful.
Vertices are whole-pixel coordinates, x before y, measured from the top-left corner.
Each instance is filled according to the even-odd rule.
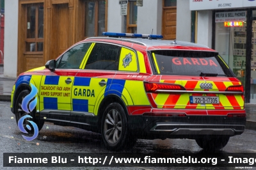
[[[33,109],[35,109],[36,107],[36,103],[37,103],[37,97],[36,97],[36,93],[37,93],[37,89],[36,87],[33,85],[33,84],[30,84],[31,86],[31,92],[22,100],[22,104],[21,104],[21,108],[23,111],[25,112],[28,112],[30,113],[30,111],[33,111]],[[33,99],[35,97],[34,100],[32,100],[29,104],[29,101],[31,99]],[[28,104],[29,104],[29,108],[28,108]],[[23,127],[23,122],[25,121],[26,118],[32,118],[31,116],[29,115],[25,115],[25,116],[22,116],[20,118],[20,120],[18,121],[18,127],[20,129],[21,132],[25,133],[25,134],[28,134],[28,132],[25,130],[25,128]],[[25,135],[22,135],[22,137],[24,139],[26,139],[27,141],[32,141],[33,139],[35,139],[38,135],[38,127],[36,125],[35,122],[33,121],[30,121],[30,120],[26,120],[28,121],[29,123],[31,123],[31,125],[33,126],[34,128],[34,135],[32,137],[27,137]],[[26,125],[26,127],[28,128],[28,130],[31,130],[31,127],[29,125]]]

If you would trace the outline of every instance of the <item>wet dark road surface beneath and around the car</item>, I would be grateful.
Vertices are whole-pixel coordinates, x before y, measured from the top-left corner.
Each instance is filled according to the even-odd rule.
[[[3,167],[3,153],[115,153],[106,150],[100,134],[80,128],[61,127],[45,123],[38,137],[26,141],[17,127],[15,116],[10,111],[10,102],[0,102],[0,169]],[[242,135],[230,137],[221,153],[255,153],[256,131],[245,130]],[[37,144],[36,144],[37,143]],[[134,148],[126,148],[124,153],[184,153],[193,155],[204,153],[195,142],[189,139],[138,139]],[[234,167],[198,167],[198,169],[234,169]],[[19,169],[197,169],[196,167],[21,167]],[[255,169],[255,168],[254,168]]]

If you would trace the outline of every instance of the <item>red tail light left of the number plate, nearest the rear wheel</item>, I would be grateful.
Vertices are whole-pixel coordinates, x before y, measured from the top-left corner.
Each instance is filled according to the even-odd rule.
[[[162,84],[162,83],[149,83],[144,82],[145,89],[149,93],[154,93],[159,89],[162,90],[185,90],[184,87],[177,84]]]

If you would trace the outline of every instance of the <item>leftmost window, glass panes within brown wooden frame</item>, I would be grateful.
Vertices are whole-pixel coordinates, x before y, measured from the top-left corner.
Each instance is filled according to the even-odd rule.
[[[44,49],[44,4],[32,4],[26,8],[26,51],[40,52]]]

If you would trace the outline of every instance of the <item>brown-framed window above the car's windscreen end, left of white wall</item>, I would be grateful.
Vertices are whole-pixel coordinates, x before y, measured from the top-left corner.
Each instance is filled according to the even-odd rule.
[[[86,1],[84,36],[101,36],[106,31],[106,1]]]

